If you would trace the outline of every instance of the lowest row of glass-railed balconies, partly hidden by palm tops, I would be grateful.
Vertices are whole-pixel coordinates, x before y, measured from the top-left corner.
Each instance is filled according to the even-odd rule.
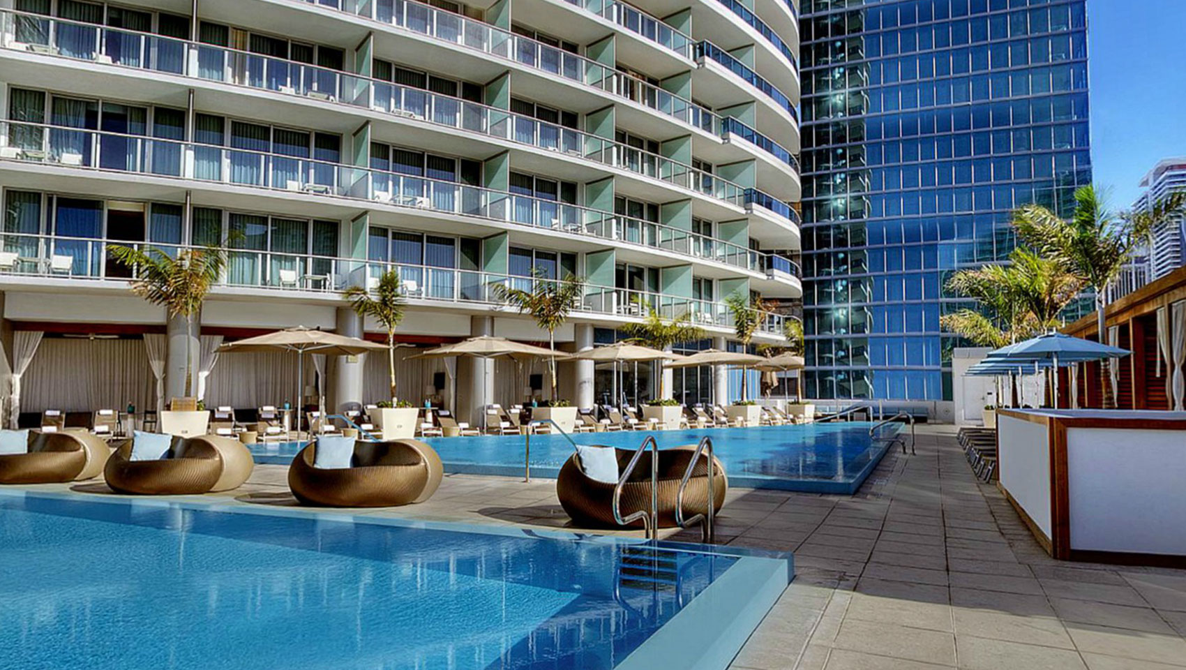
[[[170,255],[186,248],[168,243],[5,232],[0,234],[0,283],[31,280],[39,283],[45,279],[94,282],[134,279],[135,273],[130,268],[110,260],[111,245],[154,247]],[[227,268],[215,285],[215,292],[293,291],[338,298],[349,286],[374,287],[378,276],[389,270],[400,274],[404,296],[412,304],[452,304],[470,308],[505,310],[508,306],[497,299],[492,289],[496,285],[530,291],[541,282],[550,281],[412,263],[243,249],[232,243],[228,250]],[[592,319],[633,320],[650,310],[669,319],[689,315],[706,327],[733,327],[733,317],[722,302],[611,286],[586,286],[585,295],[573,313]],[[766,313],[760,332],[782,336],[786,318]]]

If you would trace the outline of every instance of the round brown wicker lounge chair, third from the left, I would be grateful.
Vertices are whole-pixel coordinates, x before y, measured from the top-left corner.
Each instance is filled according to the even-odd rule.
[[[355,442],[350,467],[313,467],[310,444],[288,467],[288,487],[306,505],[388,508],[427,500],[440,486],[441,459],[419,440]]]

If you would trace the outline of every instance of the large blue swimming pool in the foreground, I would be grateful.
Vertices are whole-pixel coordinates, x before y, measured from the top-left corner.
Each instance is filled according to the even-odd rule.
[[[0,668],[718,668],[789,555],[0,491]]]

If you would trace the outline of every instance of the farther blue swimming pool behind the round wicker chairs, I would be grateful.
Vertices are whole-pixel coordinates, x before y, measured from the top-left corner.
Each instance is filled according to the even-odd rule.
[[[708,435],[716,458],[725,465],[729,484],[753,489],[783,489],[814,493],[854,493],[885,455],[900,423],[869,435],[865,421],[763,426],[754,428],[707,428],[630,433],[580,433],[573,440],[587,445],[637,448],[655,435],[661,448],[695,445]],[[446,472],[523,476],[524,439],[518,435],[476,438],[428,438],[440,454]],[[256,462],[292,461],[296,442],[256,445]],[[531,436],[531,474],[555,477],[573,453],[563,435]]]

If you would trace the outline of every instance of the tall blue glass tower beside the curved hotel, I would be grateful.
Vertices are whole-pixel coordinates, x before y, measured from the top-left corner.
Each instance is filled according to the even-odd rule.
[[[946,279],[1091,181],[1085,2],[803,5],[804,394],[951,400]]]

